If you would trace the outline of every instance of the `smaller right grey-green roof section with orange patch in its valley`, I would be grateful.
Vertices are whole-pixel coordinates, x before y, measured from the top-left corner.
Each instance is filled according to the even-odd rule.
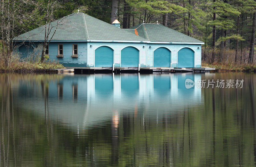
[[[136,34],[135,31],[137,30],[140,37],[152,42],[203,43],[200,40],[165,27],[161,24],[141,23],[137,26],[124,30],[133,34]]]

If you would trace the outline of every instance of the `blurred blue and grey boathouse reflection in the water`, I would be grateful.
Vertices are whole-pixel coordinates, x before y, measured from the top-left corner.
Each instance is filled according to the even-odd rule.
[[[187,105],[201,102],[201,88],[186,89],[185,80],[201,79],[200,74],[93,74],[64,76],[50,80],[47,104],[54,120],[74,126],[89,127],[113,120],[113,112],[129,112],[135,116],[164,115],[183,111]],[[45,83],[44,83],[45,84]],[[24,86],[20,89],[25,89]],[[37,96],[30,95],[31,97]],[[40,113],[44,104],[28,104]],[[168,102],[166,102],[168,101]],[[177,105],[178,104],[178,105]]]

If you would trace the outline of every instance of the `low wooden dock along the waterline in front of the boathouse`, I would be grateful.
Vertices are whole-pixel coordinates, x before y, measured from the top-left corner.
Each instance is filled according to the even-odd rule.
[[[75,74],[92,74],[92,73],[153,73],[153,72],[194,72],[205,73],[215,70],[215,68],[175,68],[175,67],[68,67],[66,69],[47,69],[46,73],[75,73]]]

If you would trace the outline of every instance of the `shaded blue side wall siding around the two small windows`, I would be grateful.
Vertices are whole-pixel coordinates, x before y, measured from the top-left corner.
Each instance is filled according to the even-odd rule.
[[[63,44],[63,58],[57,58],[58,44]],[[73,44],[77,44],[78,58],[72,58]],[[87,64],[87,43],[86,42],[50,42],[49,58],[52,61],[57,61],[65,67],[86,67]]]

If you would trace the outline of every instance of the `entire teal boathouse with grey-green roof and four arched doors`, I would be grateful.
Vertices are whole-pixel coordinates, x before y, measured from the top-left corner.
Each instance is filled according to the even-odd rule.
[[[204,42],[161,24],[121,29],[82,12],[53,21],[46,54],[66,67],[201,67]],[[23,57],[44,41],[45,26],[21,34],[14,52]],[[50,39],[49,37],[49,39]],[[39,53],[40,54],[40,53]]]

